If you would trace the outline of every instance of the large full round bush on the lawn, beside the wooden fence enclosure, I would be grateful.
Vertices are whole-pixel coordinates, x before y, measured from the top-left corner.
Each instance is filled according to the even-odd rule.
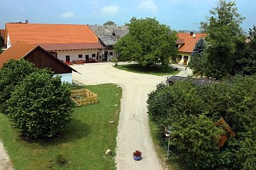
[[[8,117],[13,127],[28,139],[44,139],[58,135],[70,122],[71,91],[61,77],[46,69],[28,75],[7,101]]]

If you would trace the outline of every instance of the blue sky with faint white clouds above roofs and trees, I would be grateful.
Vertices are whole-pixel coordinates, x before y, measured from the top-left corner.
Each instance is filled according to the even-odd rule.
[[[132,17],[156,19],[174,30],[198,30],[218,0],[1,0],[0,28],[6,22],[47,24],[97,24],[108,20],[118,26]],[[256,0],[237,0],[238,12],[246,19],[244,31],[256,25]]]

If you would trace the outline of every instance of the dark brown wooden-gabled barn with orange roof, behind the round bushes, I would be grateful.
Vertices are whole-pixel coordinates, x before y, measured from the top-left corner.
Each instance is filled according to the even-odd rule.
[[[60,59],[52,56],[39,45],[18,41],[0,54],[0,68],[10,59],[19,60],[24,58],[26,61],[34,63],[37,68],[50,68],[56,75],[61,75],[61,81],[72,83],[72,71],[77,72]]]

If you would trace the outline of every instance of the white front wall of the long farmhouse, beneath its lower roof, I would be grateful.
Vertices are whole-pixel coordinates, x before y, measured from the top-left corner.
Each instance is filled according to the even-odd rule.
[[[95,58],[97,58],[97,52],[99,52],[99,56],[102,54],[102,50],[58,50],[57,58],[63,61],[66,61],[66,56],[70,56],[70,61],[83,59],[85,60],[85,55],[89,55],[89,58],[92,59],[92,54],[95,54]],[[83,58],[78,58],[78,54],[82,54]],[[101,61],[101,59],[99,58]]]

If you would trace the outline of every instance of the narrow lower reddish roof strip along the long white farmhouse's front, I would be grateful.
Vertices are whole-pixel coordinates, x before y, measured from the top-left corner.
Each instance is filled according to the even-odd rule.
[[[100,43],[44,43],[38,45],[45,50],[104,49]]]

